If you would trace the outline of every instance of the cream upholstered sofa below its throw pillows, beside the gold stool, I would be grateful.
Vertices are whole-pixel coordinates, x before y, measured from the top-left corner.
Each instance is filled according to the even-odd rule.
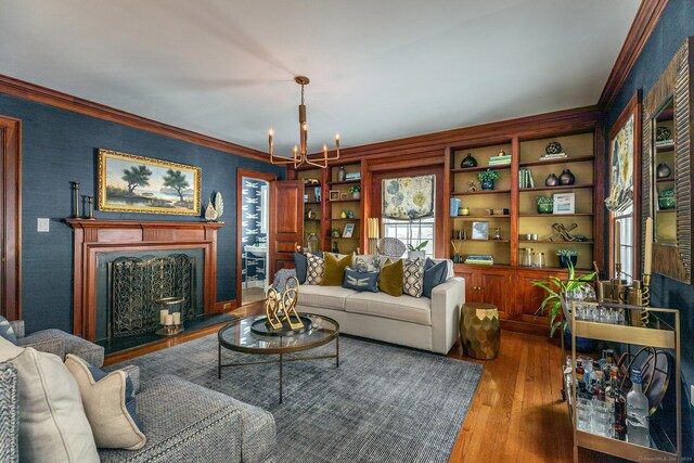
[[[454,276],[430,299],[303,284],[297,310],[336,320],[340,333],[446,355],[458,339],[464,301],[465,281]]]

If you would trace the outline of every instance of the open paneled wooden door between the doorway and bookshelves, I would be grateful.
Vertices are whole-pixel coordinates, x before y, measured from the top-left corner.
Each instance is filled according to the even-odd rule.
[[[270,182],[268,257],[270,281],[280,269],[294,268],[294,252],[304,242],[304,182]]]

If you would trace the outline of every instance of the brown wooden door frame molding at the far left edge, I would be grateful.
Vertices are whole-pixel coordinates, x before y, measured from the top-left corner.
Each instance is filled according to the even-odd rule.
[[[0,116],[2,153],[2,261],[0,314],[8,320],[22,318],[22,120]]]

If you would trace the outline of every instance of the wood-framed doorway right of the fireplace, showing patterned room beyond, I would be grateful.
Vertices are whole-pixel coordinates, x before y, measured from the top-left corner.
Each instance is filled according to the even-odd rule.
[[[236,173],[236,299],[239,306],[265,300],[270,271],[270,182],[277,177],[253,170]]]

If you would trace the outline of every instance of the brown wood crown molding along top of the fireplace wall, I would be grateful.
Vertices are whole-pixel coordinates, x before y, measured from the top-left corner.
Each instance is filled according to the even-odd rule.
[[[168,124],[159,123],[158,120],[149,119],[146,117],[138,116],[137,114],[127,113],[125,111],[116,110],[115,107],[106,106],[101,103],[95,103],[90,100],[85,100],[79,97],[74,97],[2,74],[0,74],[0,93],[48,104],[62,110],[73,111],[86,116],[97,117],[99,119],[121,124],[136,129],[146,130],[160,136],[207,146],[213,150],[219,150],[266,163],[269,160],[269,155],[258,150],[242,146],[240,144],[216,139],[191,130],[185,130],[180,127],[170,126]]]

